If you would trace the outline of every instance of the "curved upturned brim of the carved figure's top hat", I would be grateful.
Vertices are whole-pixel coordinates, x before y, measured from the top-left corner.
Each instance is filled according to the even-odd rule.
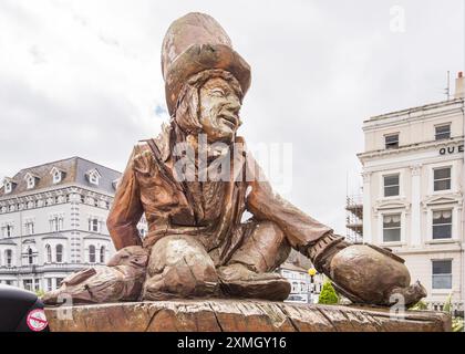
[[[165,91],[169,115],[176,110],[183,85],[192,76],[210,69],[230,72],[239,82],[244,95],[250,87],[250,66],[230,46],[224,44],[193,44],[169,65]]]

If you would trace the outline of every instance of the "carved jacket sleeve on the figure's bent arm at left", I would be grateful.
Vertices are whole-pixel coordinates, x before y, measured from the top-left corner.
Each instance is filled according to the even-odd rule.
[[[134,171],[134,159],[138,147],[130,157],[126,169],[116,189],[112,209],[110,210],[106,226],[116,250],[128,246],[141,246],[137,223],[143,214],[141,190]]]

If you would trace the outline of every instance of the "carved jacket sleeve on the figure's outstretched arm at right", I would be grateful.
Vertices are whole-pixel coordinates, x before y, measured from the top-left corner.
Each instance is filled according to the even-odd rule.
[[[300,250],[332,232],[328,226],[314,220],[292,204],[275,194],[257,162],[247,154],[248,189],[247,209],[258,220],[277,223],[292,248]]]

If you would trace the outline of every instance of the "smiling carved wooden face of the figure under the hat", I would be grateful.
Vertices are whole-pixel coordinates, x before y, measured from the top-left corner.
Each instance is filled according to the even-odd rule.
[[[199,122],[208,142],[231,142],[241,125],[240,100],[232,86],[220,77],[200,88]]]

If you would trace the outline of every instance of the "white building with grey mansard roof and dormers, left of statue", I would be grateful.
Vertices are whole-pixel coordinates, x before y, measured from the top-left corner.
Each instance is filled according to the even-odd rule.
[[[0,188],[0,283],[49,291],[72,272],[105,263],[115,251],[106,217],[120,177],[72,157],[6,178]]]

